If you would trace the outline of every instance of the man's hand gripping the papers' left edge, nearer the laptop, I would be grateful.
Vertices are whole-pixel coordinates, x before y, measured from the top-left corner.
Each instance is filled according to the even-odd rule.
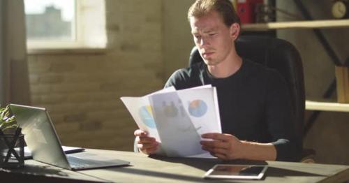
[[[155,138],[149,137],[147,132],[140,129],[135,130],[135,137],[138,149],[144,154],[154,154],[158,149],[158,142]]]

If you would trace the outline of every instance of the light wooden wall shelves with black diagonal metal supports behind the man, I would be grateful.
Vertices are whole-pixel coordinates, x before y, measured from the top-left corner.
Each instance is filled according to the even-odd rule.
[[[302,15],[308,21],[297,21],[297,22],[269,22],[269,23],[256,23],[256,24],[242,24],[242,31],[244,32],[262,32],[262,31],[276,31],[276,29],[313,29],[315,36],[318,38],[320,43],[324,46],[327,54],[332,59],[336,66],[341,66],[343,63],[340,61],[336,52],[329,45],[327,39],[322,34],[320,29],[331,29],[331,28],[345,28],[349,27],[349,19],[346,20],[313,20],[309,12],[302,5],[302,1],[295,0],[298,8],[301,10]],[[348,59],[349,60],[349,59]],[[344,63],[345,64],[345,63]],[[332,92],[334,92],[336,80],[332,81],[327,91],[323,95],[324,98],[329,98]],[[320,115],[321,111],[331,112],[349,112],[349,103],[334,103],[334,102],[321,102],[321,101],[306,101],[306,110],[312,110],[313,113],[306,122],[304,129],[304,136],[308,133],[309,129]]]

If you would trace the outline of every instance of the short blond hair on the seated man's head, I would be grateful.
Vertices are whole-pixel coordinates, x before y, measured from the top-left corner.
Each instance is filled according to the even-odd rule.
[[[240,18],[229,0],[196,0],[188,10],[188,20],[191,17],[202,17],[215,10],[223,18],[225,25],[240,24]]]

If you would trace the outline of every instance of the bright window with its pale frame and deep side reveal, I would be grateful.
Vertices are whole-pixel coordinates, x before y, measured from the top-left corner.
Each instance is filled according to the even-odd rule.
[[[24,7],[29,50],[106,45],[104,1],[24,0]]]

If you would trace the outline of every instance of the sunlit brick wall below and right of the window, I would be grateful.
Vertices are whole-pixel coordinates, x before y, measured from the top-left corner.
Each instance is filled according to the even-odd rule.
[[[119,97],[163,87],[161,0],[105,8],[105,52],[29,55],[31,101],[49,110],[63,145],[132,150],[136,126]]]

